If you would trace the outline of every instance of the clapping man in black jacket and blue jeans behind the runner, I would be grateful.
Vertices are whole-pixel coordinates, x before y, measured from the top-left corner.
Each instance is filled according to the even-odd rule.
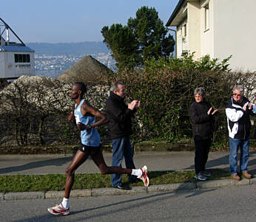
[[[115,82],[110,88],[110,97],[106,103],[106,116],[109,119],[108,131],[112,139],[112,166],[121,167],[123,158],[126,167],[134,169],[133,149],[129,136],[132,134],[132,116],[140,106],[140,101],[133,100],[126,105],[124,98],[126,89],[124,83]],[[121,183],[121,174],[112,174],[112,187],[128,190],[129,187]],[[129,181],[136,181],[136,177],[129,176]]]

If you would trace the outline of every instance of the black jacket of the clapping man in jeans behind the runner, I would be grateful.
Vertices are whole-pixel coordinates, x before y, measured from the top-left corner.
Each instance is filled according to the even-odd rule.
[[[117,94],[110,92],[105,108],[110,139],[118,139],[122,136],[132,134],[132,115],[135,111],[128,108],[124,103],[124,99]]]

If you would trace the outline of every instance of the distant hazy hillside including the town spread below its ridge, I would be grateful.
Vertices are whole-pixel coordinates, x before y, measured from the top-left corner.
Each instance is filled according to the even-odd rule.
[[[27,46],[35,50],[36,75],[58,77],[86,55],[91,55],[92,58],[115,70],[115,60],[102,41],[61,44],[28,43]]]

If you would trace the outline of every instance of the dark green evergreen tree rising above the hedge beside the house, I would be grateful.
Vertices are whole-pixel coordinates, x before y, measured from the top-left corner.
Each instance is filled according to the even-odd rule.
[[[138,9],[136,18],[129,18],[126,26],[112,24],[101,30],[118,69],[138,68],[150,58],[168,57],[175,41],[167,32],[155,8],[146,6]]]

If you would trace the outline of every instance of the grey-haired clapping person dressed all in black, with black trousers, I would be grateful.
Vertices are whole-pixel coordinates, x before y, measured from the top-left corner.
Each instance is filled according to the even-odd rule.
[[[205,91],[203,88],[195,89],[194,95],[195,102],[190,105],[189,115],[192,119],[192,131],[195,142],[195,178],[205,181],[207,179],[206,176],[211,176],[206,171],[205,165],[214,131],[213,115],[218,110],[213,110],[212,105],[204,100]]]

